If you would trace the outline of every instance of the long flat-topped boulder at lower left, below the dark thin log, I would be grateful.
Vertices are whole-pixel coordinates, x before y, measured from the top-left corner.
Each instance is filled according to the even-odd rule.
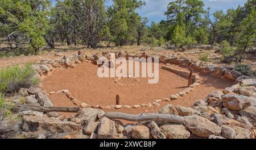
[[[63,122],[56,118],[47,118],[40,116],[23,116],[22,128],[26,132],[47,130],[52,133],[63,133],[79,131],[80,124],[73,122]]]

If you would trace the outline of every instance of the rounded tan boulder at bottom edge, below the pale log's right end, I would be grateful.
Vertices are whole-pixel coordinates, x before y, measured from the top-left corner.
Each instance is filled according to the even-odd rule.
[[[190,132],[182,124],[167,123],[160,127],[167,139],[188,139]]]

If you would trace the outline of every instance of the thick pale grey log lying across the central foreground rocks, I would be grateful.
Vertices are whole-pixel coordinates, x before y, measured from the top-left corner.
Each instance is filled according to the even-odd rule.
[[[105,116],[109,119],[123,119],[129,121],[145,121],[145,120],[153,120],[153,121],[166,121],[171,123],[180,123],[183,124],[184,118],[183,116],[178,115],[170,115],[170,114],[124,114],[124,113],[113,113],[107,112]]]

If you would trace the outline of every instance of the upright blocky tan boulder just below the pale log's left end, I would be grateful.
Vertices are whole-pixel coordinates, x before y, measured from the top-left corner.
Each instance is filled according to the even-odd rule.
[[[106,117],[102,118],[98,125],[98,139],[113,139],[115,134],[115,122]]]

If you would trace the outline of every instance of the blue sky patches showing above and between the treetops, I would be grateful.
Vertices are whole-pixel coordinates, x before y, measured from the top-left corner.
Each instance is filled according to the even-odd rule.
[[[142,6],[141,9],[136,10],[139,15],[146,16],[150,22],[159,22],[160,20],[165,20],[166,16],[164,12],[167,10],[168,3],[175,0],[144,0],[146,2],[145,6]],[[238,5],[244,5],[247,0],[203,0],[205,4],[205,9],[207,7],[211,8],[211,11],[216,10],[228,10],[230,8],[236,8]],[[111,0],[106,0],[106,5],[111,5]]]

